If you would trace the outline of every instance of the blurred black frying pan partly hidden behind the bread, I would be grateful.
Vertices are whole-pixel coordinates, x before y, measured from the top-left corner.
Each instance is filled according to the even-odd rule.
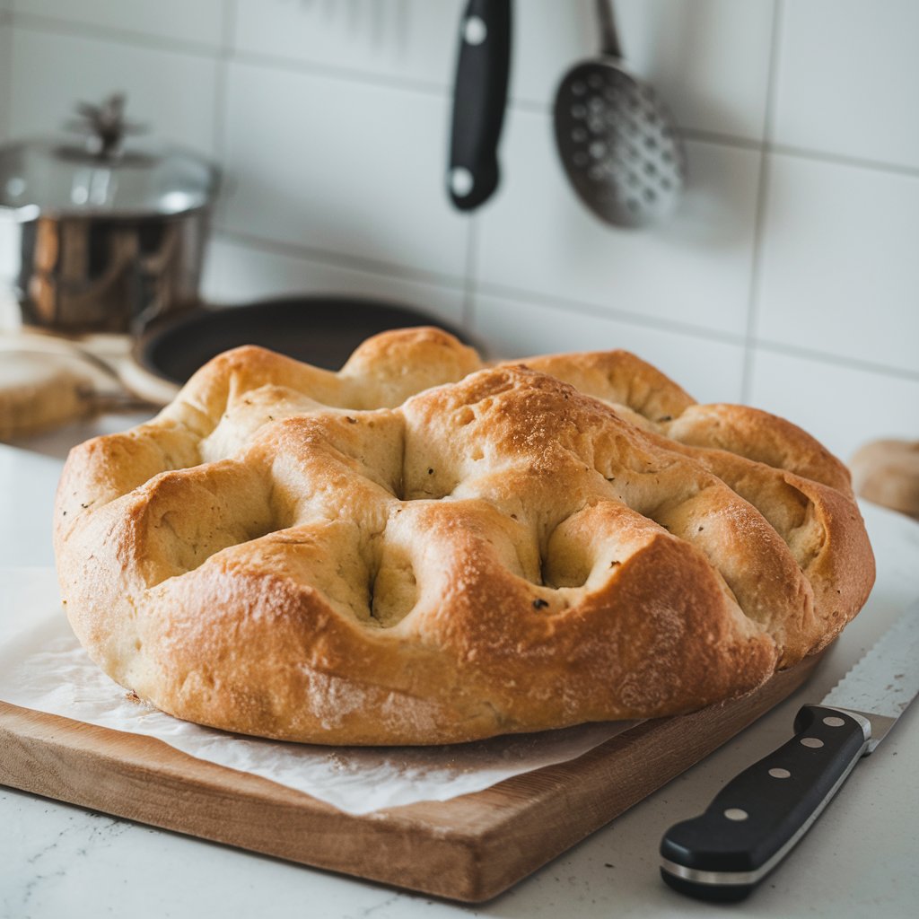
[[[199,367],[229,348],[258,345],[338,370],[371,335],[418,325],[437,325],[472,344],[469,335],[412,307],[316,294],[199,308],[156,323],[134,346],[135,367],[130,372],[122,369],[122,379],[131,391],[147,398],[156,391],[162,396],[171,391],[163,400],[168,402]]]

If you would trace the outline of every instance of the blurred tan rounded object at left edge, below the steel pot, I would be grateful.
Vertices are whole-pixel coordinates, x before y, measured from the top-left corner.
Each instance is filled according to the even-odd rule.
[[[89,414],[93,380],[65,355],[0,349],[0,440],[31,437]]]

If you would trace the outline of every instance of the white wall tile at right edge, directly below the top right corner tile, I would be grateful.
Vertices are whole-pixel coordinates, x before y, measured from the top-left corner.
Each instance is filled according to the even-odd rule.
[[[758,334],[919,370],[919,175],[772,154],[769,176]]]

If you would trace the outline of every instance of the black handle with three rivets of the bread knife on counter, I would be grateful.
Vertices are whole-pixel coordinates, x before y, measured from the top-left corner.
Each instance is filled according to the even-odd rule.
[[[806,705],[795,736],[720,790],[661,842],[661,875],[702,900],[743,900],[811,827],[866,752],[870,724]]]

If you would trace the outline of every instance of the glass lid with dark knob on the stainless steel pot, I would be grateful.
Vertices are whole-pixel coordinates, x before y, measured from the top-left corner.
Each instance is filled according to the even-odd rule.
[[[144,130],[124,117],[124,96],[81,103],[68,127],[80,137],[38,138],[0,147],[0,210],[43,217],[148,217],[210,204],[217,169],[177,147],[135,145]]]

